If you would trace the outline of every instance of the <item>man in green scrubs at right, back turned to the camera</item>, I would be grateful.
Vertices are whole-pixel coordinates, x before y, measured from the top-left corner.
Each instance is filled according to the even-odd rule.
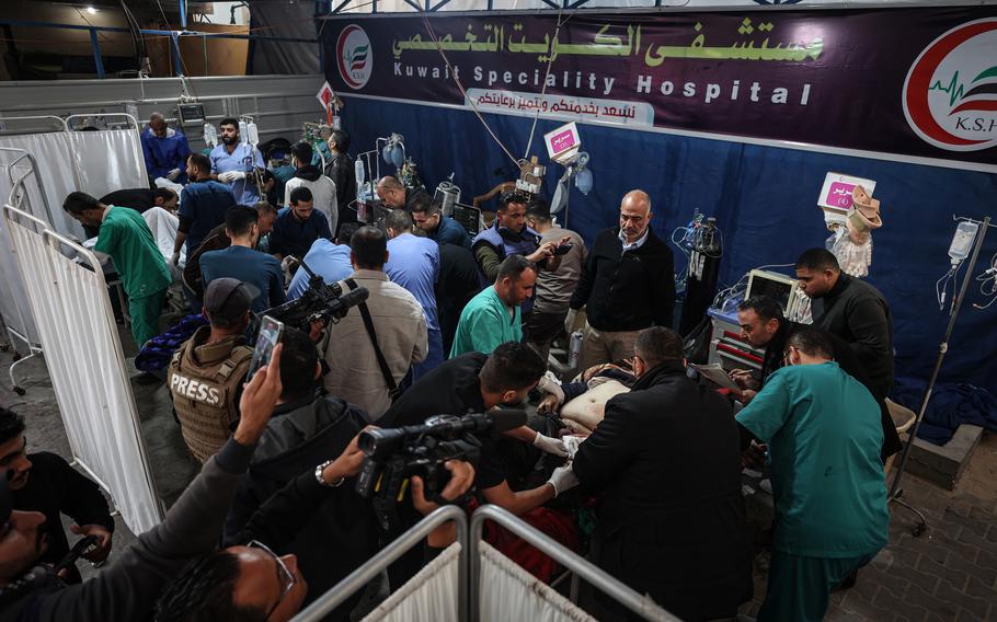
[[[776,528],[758,621],[820,621],[830,592],[886,544],[880,408],[832,360],[817,330],[787,342],[776,371],[736,415],[768,445]]]

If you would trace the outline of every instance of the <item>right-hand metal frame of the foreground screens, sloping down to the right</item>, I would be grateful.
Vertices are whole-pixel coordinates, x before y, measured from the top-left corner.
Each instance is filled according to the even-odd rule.
[[[471,517],[471,541],[470,541],[470,584],[471,584],[471,622],[478,622],[481,619],[481,611],[478,603],[481,601],[479,595],[481,590],[481,541],[482,530],[485,520],[494,520],[502,527],[508,529],[538,551],[553,558],[555,562],[575,573],[585,579],[593,587],[603,591],[607,596],[616,599],[620,604],[637,613],[645,620],[654,622],[681,622],[675,615],[672,615],[658,607],[650,597],[641,596],[630,587],[626,586],[605,571],[596,567],[591,562],[578,556],[568,548],[559,544],[553,539],[545,535],[539,530],[530,527],[512,512],[502,509],[495,505],[485,505],[478,508],[474,516]]]

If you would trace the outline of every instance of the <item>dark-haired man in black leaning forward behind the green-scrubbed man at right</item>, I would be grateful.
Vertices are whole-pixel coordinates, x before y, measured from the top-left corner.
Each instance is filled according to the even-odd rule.
[[[734,382],[742,388],[740,401],[747,405],[755,398],[757,391],[765,385],[768,378],[782,368],[786,344],[793,331],[802,326],[802,324],[787,320],[782,315],[782,307],[779,306],[775,298],[769,296],[753,296],[738,304],[737,322],[741,324],[741,337],[743,339],[756,348],[765,348],[761,373],[757,378],[744,370],[735,370],[731,373]],[[872,393],[880,406],[880,418],[883,425],[882,459],[885,461],[886,458],[893,456],[903,447],[899,435],[896,433],[893,417],[890,416],[890,408],[886,407],[885,396],[875,393],[862,362],[848,347],[848,344],[833,333],[825,333],[825,335],[834,349],[834,360],[841,368],[841,371],[858,380],[866,389],[869,389],[869,392]]]

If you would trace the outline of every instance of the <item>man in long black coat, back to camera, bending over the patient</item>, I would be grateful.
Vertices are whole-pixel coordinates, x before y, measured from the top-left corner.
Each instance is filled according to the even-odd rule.
[[[752,598],[741,445],[730,404],[686,376],[681,337],[640,332],[629,393],[572,463],[604,491],[597,564],[683,620],[734,618]]]

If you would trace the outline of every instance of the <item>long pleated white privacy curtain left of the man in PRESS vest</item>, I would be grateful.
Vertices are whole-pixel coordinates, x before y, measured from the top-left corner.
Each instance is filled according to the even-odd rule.
[[[4,218],[73,459],[141,533],[161,514],[103,274],[21,222]]]

